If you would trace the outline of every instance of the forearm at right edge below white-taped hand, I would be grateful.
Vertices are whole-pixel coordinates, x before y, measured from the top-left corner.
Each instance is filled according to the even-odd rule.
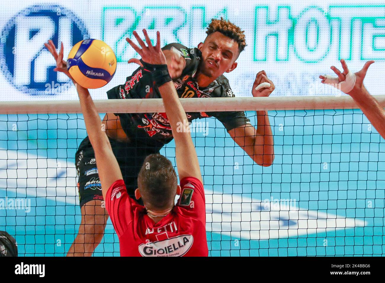
[[[385,111],[378,101],[363,87],[360,91],[350,94],[363,114],[368,118],[373,127],[385,139]]]

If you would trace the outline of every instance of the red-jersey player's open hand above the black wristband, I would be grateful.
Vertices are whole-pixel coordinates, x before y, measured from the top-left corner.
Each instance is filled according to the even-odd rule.
[[[151,40],[147,34],[146,29],[143,29],[144,38],[146,39],[147,45],[143,42],[143,40],[139,37],[136,31],[132,32],[139,43],[139,46],[137,46],[131,39],[128,37],[126,38],[127,42],[131,45],[131,47],[142,57],[142,60],[146,63],[153,64],[153,65],[161,65],[161,64],[167,64],[166,57],[164,56],[162,49],[161,49],[161,35],[159,31],[156,32],[156,45],[152,46]],[[129,63],[138,63],[138,59],[130,59]],[[142,65],[142,64],[140,64]]]

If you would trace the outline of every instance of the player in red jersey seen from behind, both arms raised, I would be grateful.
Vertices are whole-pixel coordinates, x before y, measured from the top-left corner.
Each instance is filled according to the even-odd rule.
[[[157,32],[156,46],[152,46],[146,30],[147,45],[134,33],[139,48],[131,40],[129,44],[141,55],[146,72],[151,72],[162,96],[166,115],[175,139],[176,164],[180,186],[171,162],[161,154],[146,157],[138,176],[137,199],[130,198],[124,184],[121,169],[109,139],[102,131],[102,122],[87,89],[75,83],[79,94],[84,122],[95,151],[102,194],[119,236],[121,256],[207,256],[206,209],[202,176],[198,156],[192,143],[186,113],[177,96],[169,75],[166,57],[160,48]],[[57,57],[60,66],[63,48]],[[182,127],[181,127],[182,126]],[[185,127],[185,128],[184,128]],[[181,195],[174,205],[176,195]]]

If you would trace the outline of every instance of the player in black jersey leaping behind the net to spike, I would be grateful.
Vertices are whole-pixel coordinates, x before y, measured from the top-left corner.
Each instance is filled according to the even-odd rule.
[[[162,48],[169,73],[177,94],[190,97],[234,97],[224,72],[237,67],[236,59],[246,46],[243,31],[233,23],[221,18],[213,19],[206,31],[208,34],[198,48],[189,49],[173,43]],[[133,33],[139,38],[136,32]],[[48,47],[47,47],[48,48]],[[50,49],[54,49],[51,47]],[[55,57],[55,50],[50,50]],[[137,59],[129,63],[140,64]],[[263,82],[269,87],[256,90]],[[274,84],[264,71],[258,72],[252,87],[255,97],[268,96]],[[127,77],[126,82],[107,92],[109,99],[161,98],[154,87],[151,73],[142,66]],[[187,113],[187,119],[216,117],[226,127],[234,141],[259,165],[273,163],[273,135],[267,111],[256,111],[255,129],[243,111]],[[171,127],[165,113],[107,113],[103,123],[110,139],[112,150],[122,170],[129,195],[134,198],[137,176],[145,157],[157,153],[172,140]],[[79,173],[78,189],[82,222],[67,256],[90,256],[100,243],[108,214],[104,209],[102,191],[98,178],[95,156],[88,137],[80,144],[75,156]]]

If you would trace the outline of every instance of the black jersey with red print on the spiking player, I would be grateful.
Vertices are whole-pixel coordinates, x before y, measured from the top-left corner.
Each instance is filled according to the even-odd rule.
[[[181,77],[173,79],[176,92],[180,98],[190,97],[234,97],[229,81],[224,75],[218,77],[207,87],[199,87],[195,79],[201,51],[197,48],[189,49],[184,45],[172,43],[162,48],[171,50],[174,47],[186,59],[186,67]],[[154,86],[150,72],[139,67],[127,77],[126,83],[107,91],[109,99],[143,99],[161,98],[159,90]],[[244,111],[229,112],[189,112],[189,122],[196,118],[215,117],[222,122],[227,131],[245,124],[250,124]],[[130,139],[136,139],[147,145],[159,145],[172,140],[172,132],[166,113],[115,113],[119,116],[123,130]]]

